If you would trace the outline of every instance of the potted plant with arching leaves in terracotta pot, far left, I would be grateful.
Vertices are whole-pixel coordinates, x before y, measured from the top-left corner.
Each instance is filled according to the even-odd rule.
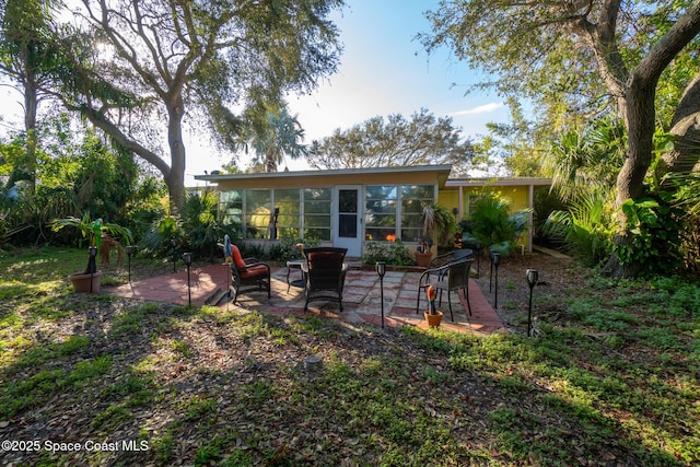
[[[91,221],[89,212],[85,212],[82,219],[70,215],[63,219],[55,219],[51,222],[51,229],[54,232],[58,232],[63,227],[78,230],[81,237],[86,238],[89,242],[88,267],[83,272],[77,272],[69,276],[70,281],[73,284],[73,290],[75,292],[98,293],[102,271],[97,269],[96,258],[100,252],[103,232],[120,235],[128,244],[131,241],[131,231],[117,224],[104,223],[102,219]],[[108,250],[107,254],[109,254]]]

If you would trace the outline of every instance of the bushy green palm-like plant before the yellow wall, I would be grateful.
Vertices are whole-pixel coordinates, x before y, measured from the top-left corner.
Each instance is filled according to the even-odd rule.
[[[511,206],[505,199],[485,191],[475,202],[471,215],[459,223],[464,240],[476,240],[487,249],[498,248],[502,254],[508,254],[529,221],[529,210],[510,211]]]

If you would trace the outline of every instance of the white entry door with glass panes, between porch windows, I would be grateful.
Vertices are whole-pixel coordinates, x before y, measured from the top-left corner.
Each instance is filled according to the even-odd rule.
[[[362,254],[362,186],[336,187],[332,245],[348,248],[347,256]]]

